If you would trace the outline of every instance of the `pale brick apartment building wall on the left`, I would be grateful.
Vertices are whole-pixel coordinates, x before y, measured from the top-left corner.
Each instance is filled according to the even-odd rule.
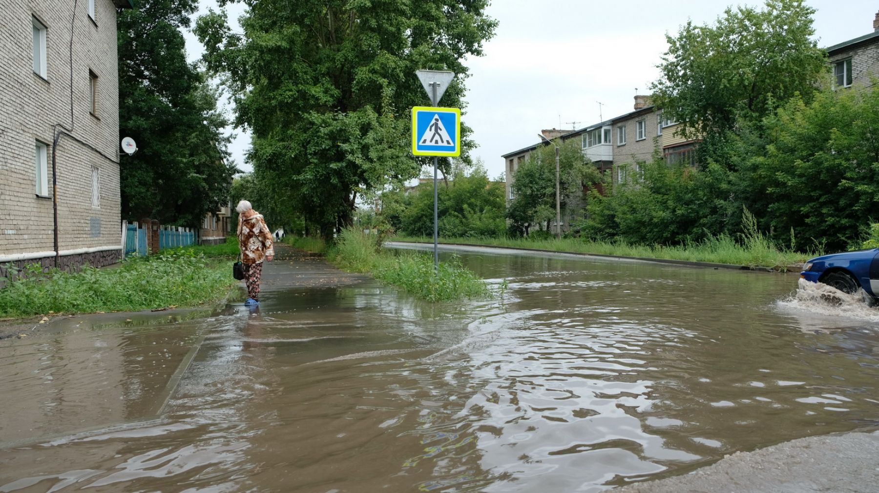
[[[0,0],[0,275],[122,255],[116,9]]]

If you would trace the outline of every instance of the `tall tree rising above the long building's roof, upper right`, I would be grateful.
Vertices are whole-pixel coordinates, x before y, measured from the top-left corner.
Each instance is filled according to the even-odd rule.
[[[767,0],[762,11],[729,7],[715,25],[687,22],[665,36],[654,104],[696,138],[723,134],[737,119],[759,122],[795,94],[809,101],[828,71],[811,39],[814,13],[803,0]]]

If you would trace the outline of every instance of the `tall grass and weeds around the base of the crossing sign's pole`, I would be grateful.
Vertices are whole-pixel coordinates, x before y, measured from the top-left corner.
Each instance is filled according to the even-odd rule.
[[[364,272],[375,279],[400,287],[425,301],[455,301],[491,297],[489,286],[456,259],[439,263],[434,272],[433,257],[418,252],[382,250],[378,237],[346,228],[327,246],[323,240],[287,236],[286,242],[302,250],[322,253],[338,268]]]

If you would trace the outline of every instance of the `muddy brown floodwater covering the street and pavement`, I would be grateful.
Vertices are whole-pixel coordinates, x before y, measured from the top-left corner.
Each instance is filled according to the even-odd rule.
[[[0,492],[600,491],[877,424],[879,312],[795,274],[460,258],[503,295],[275,283],[0,341]]]

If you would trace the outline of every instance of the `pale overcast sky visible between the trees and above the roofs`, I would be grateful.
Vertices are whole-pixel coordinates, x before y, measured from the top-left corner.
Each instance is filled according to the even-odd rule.
[[[213,0],[202,2],[202,10]],[[692,18],[702,24],[723,13],[730,0],[596,2],[585,0],[495,0],[498,19],[483,57],[468,62],[467,108],[462,120],[473,128],[491,177],[504,170],[500,156],[538,141],[541,128],[586,127],[632,110],[636,89],[656,79],[665,33],[677,33]],[[745,2],[744,4],[760,4]],[[817,9],[819,45],[832,46],[873,31],[875,0],[807,0]],[[231,5],[231,17],[240,4]],[[202,47],[187,33],[191,59]],[[426,96],[425,96],[426,98]],[[601,105],[599,105],[599,102]],[[441,102],[440,102],[441,103]],[[600,113],[599,113],[600,111]],[[560,123],[561,122],[561,123]],[[239,168],[247,134],[236,131],[231,146]]]

